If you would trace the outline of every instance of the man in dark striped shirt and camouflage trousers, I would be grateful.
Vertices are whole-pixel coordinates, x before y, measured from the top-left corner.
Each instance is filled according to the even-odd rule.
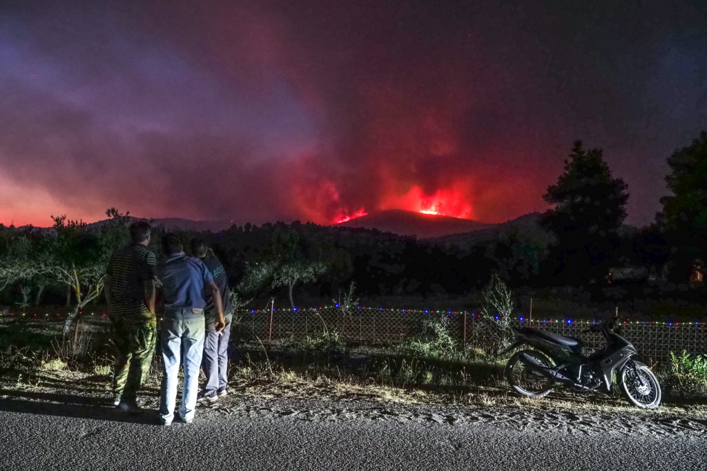
[[[105,273],[105,296],[113,326],[115,356],[114,405],[139,412],[137,391],[150,369],[156,342],[156,259],[148,248],[151,227],[130,225],[132,243],[115,251]]]

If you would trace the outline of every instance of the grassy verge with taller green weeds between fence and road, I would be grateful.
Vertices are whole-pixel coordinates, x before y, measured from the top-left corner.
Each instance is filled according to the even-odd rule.
[[[20,338],[21,342],[18,341],[17,345],[34,337],[35,332],[27,330],[26,338]],[[95,350],[97,342],[103,345],[102,350]],[[3,388],[10,390],[59,391],[108,397],[112,359],[107,353],[110,345],[101,342],[103,338],[93,335],[93,330],[90,330],[85,335],[78,335],[76,340],[71,338],[71,342],[59,342],[54,338],[51,342],[31,348],[6,345],[0,350],[0,371],[5,369],[0,381]],[[348,359],[358,354],[365,357],[366,362],[355,371],[344,371],[337,365],[345,362],[337,362],[332,357],[319,358],[316,360],[318,366],[312,367],[309,362],[317,358],[312,352],[308,352],[306,357],[309,362],[305,362],[302,354],[297,352],[291,355],[293,361],[286,363],[287,355],[281,351],[280,358],[276,358],[274,355],[278,352],[271,350],[270,345],[266,349],[260,344],[255,346],[255,350],[260,353],[259,359],[251,361],[246,356],[243,362],[231,368],[230,391],[235,395],[346,403],[368,401],[707,417],[704,400],[689,404],[664,403],[656,412],[631,407],[619,395],[583,395],[558,390],[540,400],[522,398],[511,392],[505,380],[498,375],[496,370],[500,371],[501,366],[492,364],[492,360],[483,357],[482,352],[472,355],[472,358],[479,358],[477,362],[452,365],[440,363],[437,359],[391,359],[387,352],[372,349],[346,351]],[[161,376],[161,359],[156,355],[144,388],[147,395],[158,395]]]

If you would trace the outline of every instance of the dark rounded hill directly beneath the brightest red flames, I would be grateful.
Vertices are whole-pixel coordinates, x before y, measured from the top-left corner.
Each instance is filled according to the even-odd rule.
[[[449,234],[488,229],[496,225],[458,217],[414,213],[413,211],[395,209],[356,217],[334,226],[378,229],[381,232],[392,232],[399,235],[415,236],[419,239],[429,239]]]

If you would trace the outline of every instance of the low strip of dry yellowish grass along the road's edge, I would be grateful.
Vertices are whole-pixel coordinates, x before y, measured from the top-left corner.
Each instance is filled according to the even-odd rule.
[[[262,371],[268,371],[262,374]],[[231,371],[229,397],[266,400],[320,400],[329,403],[397,403],[416,405],[468,405],[470,407],[503,408],[537,412],[564,411],[592,414],[622,414],[643,417],[707,417],[706,404],[661,405],[658,410],[641,410],[628,405],[619,397],[601,395],[571,395],[555,393],[538,400],[522,398],[509,390],[477,388],[440,392],[419,388],[397,388],[372,379],[341,375],[333,378],[322,374],[298,374],[272,366],[238,366]],[[161,374],[151,375],[141,395],[156,403]],[[110,374],[105,371],[70,371],[47,365],[30,374],[0,377],[4,390],[35,393],[86,395],[109,398]],[[235,399],[238,400],[238,399]]]

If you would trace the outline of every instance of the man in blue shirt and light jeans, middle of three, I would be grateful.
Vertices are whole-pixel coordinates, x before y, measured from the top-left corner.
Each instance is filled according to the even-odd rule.
[[[183,422],[190,424],[197,405],[199,366],[204,351],[204,289],[209,287],[214,298],[217,331],[224,325],[221,292],[204,263],[198,258],[185,256],[176,234],[165,234],[163,249],[167,258],[158,269],[165,307],[160,342],[164,362],[160,419],[164,425],[170,425],[174,419],[177,375],[182,362],[184,383],[179,415]]]

